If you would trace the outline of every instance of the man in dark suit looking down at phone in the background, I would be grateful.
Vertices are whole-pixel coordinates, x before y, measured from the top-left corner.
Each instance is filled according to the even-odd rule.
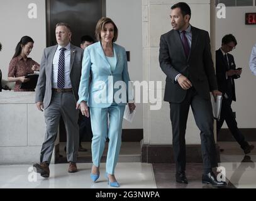
[[[222,38],[221,48],[216,50],[216,76],[218,87],[223,94],[221,104],[220,121],[217,121],[217,135],[220,133],[223,122],[226,121],[231,134],[240,144],[244,153],[250,153],[254,148],[253,144],[245,141],[245,136],[237,127],[237,121],[231,109],[232,100],[236,101],[234,79],[240,78],[242,68],[236,68],[233,55],[230,53],[237,46],[235,36],[229,34]]]

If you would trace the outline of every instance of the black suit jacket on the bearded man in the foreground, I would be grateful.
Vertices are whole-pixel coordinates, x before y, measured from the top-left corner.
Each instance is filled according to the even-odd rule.
[[[211,46],[207,31],[191,26],[192,43],[189,58],[186,58],[179,31],[171,30],[160,38],[159,62],[167,75],[164,100],[181,103],[187,90],[175,82],[179,73],[186,76],[199,95],[209,99],[209,91],[218,89],[211,58]]]

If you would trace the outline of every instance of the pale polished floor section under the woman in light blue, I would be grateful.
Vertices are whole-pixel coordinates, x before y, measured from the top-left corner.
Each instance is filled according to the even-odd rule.
[[[50,178],[43,178],[30,165],[1,165],[0,188],[113,188],[104,178],[105,163],[96,183],[89,176],[91,163],[77,163],[77,173],[68,173],[67,167],[64,163],[50,165]],[[157,188],[151,164],[118,163],[115,175],[120,188]]]

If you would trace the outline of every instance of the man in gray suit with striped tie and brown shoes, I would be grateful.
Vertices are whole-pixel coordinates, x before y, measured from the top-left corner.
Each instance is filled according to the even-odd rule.
[[[42,177],[49,177],[60,116],[67,130],[68,171],[77,171],[77,151],[79,145],[79,111],[75,109],[81,78],[83,50],[70,44],[71,30],[68,24],[58,23],[55,30],[58,45],[45,48],[40,65],[40,75],[36,85],[36,107],[45,111],[46,133],[40,164],[34,169]]]

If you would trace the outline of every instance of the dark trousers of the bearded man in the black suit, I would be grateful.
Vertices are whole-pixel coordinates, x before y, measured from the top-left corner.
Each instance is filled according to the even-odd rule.
[[[199,96],[194,87],[187,90],[186,98],[180,104],[170,103],[172,121],[172,146],[176,171],[186,170],[186,125],[189,106],[192,108],[196,125],[201,131],[201,149],[204,169],[218,166],[213,134],[213,111],[211,101]]]

